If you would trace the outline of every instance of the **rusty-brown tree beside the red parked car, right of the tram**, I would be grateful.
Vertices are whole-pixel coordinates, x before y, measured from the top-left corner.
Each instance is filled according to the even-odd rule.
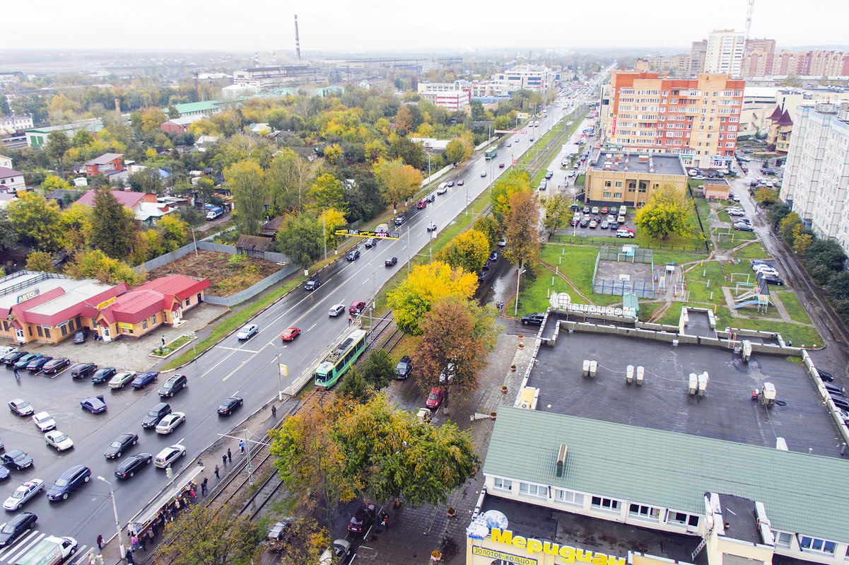
[[[457,295],[441,297],[424,314],[413,368],[419,388],[426,393],[443,387],[448,396],[474,391],[497,338],[492,308],[481,308]]]

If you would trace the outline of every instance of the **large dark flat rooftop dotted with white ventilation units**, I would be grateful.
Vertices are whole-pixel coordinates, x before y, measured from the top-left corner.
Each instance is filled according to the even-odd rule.
[[[550,319],[544,333],[553,327]],[[584,359],[598,361],[596,378],[581,376]],[[644,366],[642,387],[625,382],[628,364]],[[703,371],[706,395],[689,396],[689,374]],[[765,381],[786,404],[767,410],[751,400]],[[755,353],[746,364],[731,349],[561,329],[554,347],[539,348],[528,386],[540,389],[537,410],[771,448],[780,437],[793,451],[840,455],[842,440],[811,378],[775,355]]]

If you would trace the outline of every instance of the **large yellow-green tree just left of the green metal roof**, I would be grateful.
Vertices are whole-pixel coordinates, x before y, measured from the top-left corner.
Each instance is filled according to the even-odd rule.
[[[471,436],[456,424],[419,422],[384,395],[355,404],[335,422],[335,444],[359,494],[387,504],[440,505],[481,466]]]

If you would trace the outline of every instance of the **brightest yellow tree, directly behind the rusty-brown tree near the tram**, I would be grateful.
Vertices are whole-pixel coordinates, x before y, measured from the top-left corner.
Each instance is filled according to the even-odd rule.
[[[469,298],[475,294],[476,287],[475,274],[434,261],[413,267],[402,283],[387,293],[386,299],[396,325],[404,333],[420,336],[422,330],[419,324],[434,302],[449,295]]]

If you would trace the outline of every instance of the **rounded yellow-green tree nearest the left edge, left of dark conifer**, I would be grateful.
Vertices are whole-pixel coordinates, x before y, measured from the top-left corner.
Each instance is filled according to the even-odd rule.
[[[42,195],[22,193],[8,204],[8,218],[25,246],[38,251],[57,251],[62,246],[59,205]]]

